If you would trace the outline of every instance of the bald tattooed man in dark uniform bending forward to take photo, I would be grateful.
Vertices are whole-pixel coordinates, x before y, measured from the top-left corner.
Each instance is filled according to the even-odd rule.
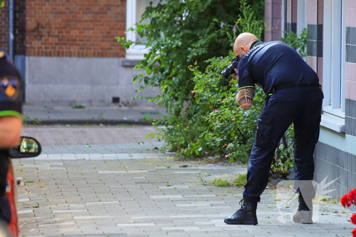
[[[239,92],[236,101],[248,110],[255,84],[267,95],[257,119],[255,142],[248,162],[247,183],[241,208],[225,218],[227,224],[257,224],[257,202],[265,189],[277,145],[294,124],[294,188],[299,192],[296,223],[312,223],[313,153],[319,139],[323,93],[314,70],[293,48],[279,41],[261,42],[242,33],[234,43],[240,58],[235,69]]]

